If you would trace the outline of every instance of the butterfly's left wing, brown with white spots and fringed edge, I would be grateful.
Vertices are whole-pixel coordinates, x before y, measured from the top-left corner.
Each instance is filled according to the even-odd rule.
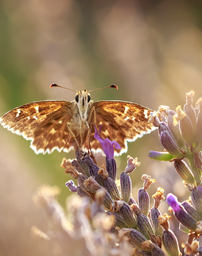
[[[0,118],[1,124],[12,133],[31,140],[36,154],[52,153],[54,150],[71,150],[67,140],[66,122],[71,118],[72,103],[64,100],[43,100],[24,104],[7,112]]]

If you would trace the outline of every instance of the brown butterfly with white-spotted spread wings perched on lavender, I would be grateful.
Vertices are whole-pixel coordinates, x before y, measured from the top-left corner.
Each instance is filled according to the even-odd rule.
[[[50,87],[60,86],[53,83]],[[110,87],[118,89],[115,85]],[[135,141],[156,129],[148,122],[151,111],[127,101],[94,102],[84,90],[77,92],[71,102],[43,100],[24,104],[7,112],[0,122],[12,133],[31,140],[30,146],[36,154],[50,154],[54,150],[69,152],[73,147],[102,152],[100,143],[93,137],[95,127],[102,125],[100,135],[117,141],[121,150],[115,148],[115,155],[120,155],[127,152],[127,141]]]

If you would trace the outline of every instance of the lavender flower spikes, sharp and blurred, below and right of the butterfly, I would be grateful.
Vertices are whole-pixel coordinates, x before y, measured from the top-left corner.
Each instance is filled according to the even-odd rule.
[[[193,92],[186,95],[184,111],[180,106],[176,113],[167,106],[160,106],[151,115],[153,124],[159,127],[164,152],[150,151],[149,157],[158,161],[172,161],[176,172],[191,192],[191,199],[182,203],[168,194],[166,201],[172,208],[180,229],[188,233],[183,244],[185,255],[202,255],[198,237],[202,233],[202,98],[192,106]],[[76,152],[77,158],[63,159],[65,173],[77,179],[66,186],[77,193],[67,206],[69,216],[55,199],[58,191],[50,187],[40,188],[35,201],[42,204],[52,224],[48,233],[33,227],[33,232],[45,240],[57,243],[61,255],[134,255],[134,256],[179,256],[182,255],[178,239],[170,230],[170,216],[162,215],[159,206],[164,198],[164,189],[159,187],[154,206],[150,208],[147,189],[156,180],[143,175],[143,187],[138,190],[137,202],[132,196],[130,174],[140,165],[138,159],[128,156],[127,166],[120,174],[120,189],[117,185],[114,146],[116,141],[103,140],[97,131],[94,135],[106,154],[106,163],[97,166],[93,159]],[[187,159],[189,165],[183,160]],[[79,199],[80,198],[80,199]],[[150,208],[150,209],[149,209]]]

